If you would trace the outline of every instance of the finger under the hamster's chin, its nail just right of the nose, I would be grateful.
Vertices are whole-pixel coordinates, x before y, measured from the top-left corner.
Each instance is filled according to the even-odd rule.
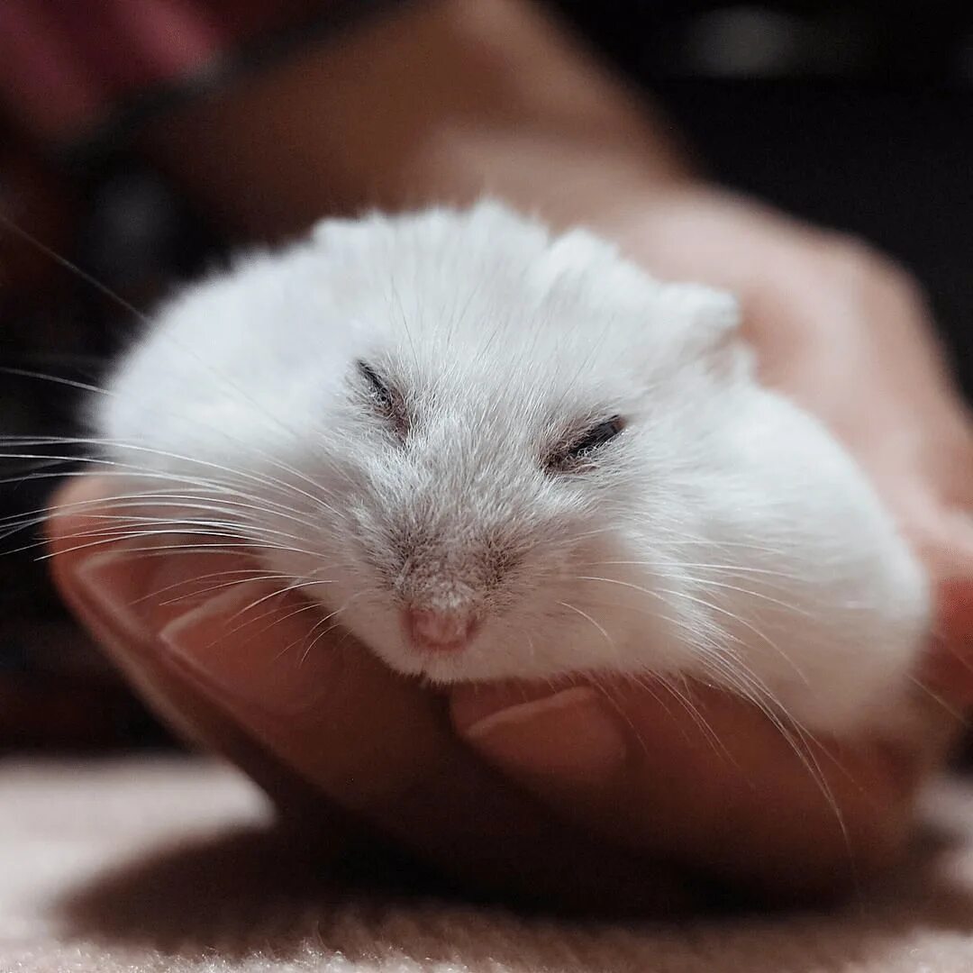
[[[902,844],[919,779],[905,750],[800,739],[703,688],[681,702],[635,685],[525,693],[456,691],[458,732],[611,841],[797,895],[847,888]]]

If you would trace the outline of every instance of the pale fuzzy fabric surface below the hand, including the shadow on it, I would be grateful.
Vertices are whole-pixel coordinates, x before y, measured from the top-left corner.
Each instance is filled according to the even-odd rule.
[[[580,926],[311,880],[222,767],[8,761],[0,971],[968,973],[973,787],[930,806],[945,839],[841,911]]]

